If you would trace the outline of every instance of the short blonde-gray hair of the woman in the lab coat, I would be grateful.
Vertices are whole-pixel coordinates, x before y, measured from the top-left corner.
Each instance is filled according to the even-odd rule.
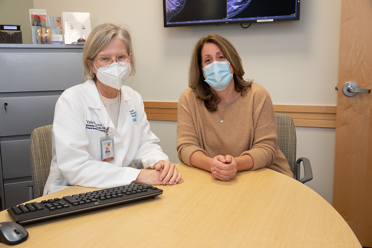
[[[125,24],[113,24],[113,23],[103,23],[96,26],[92,32],[90,32],[83,49],[83,65],[84,73],[83,76],[87,79],[94,79],[96,76],[92,69],[90,69],[88,64],[88,59],[92,60],[96,55],[105,48],[113,37],[117,37],[124,41],[128,55],[132,53],[132,62],[131,62],[131,74],[135,75],[136,73],[136,62],[134,58],[131,33],[129,27]]]

